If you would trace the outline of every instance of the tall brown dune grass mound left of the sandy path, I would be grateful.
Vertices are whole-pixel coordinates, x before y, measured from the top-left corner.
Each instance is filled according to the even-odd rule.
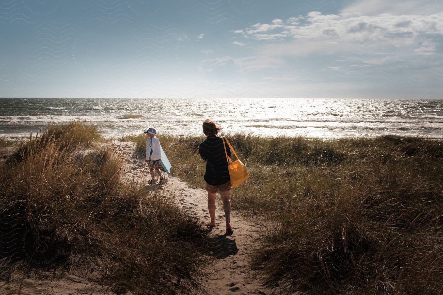
[[[57,269],[119,294],[204,292],[210,259],[198,221],[168,195],[125,183],[122,155],[96,139],[85,122],[50,126],[4,164],[2,269]]]

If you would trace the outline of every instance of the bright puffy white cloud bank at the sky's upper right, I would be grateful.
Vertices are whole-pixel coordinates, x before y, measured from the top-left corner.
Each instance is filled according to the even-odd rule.
[[[375,16],[343,12],[338,15],[322,15],[319,11],[307,14],[303,25],[295,24],[298,18],[285,21],[275,19],[272,23],[257,23],[246,28],[245,35],[262,41],[293,38],[299,43],[316,43],[318,49],[342,49],[350,42],[377,42],[379,45],[411,47],[419,49],[419,42],[427,41],[426,50],[430,54],[436,48],[432,41],[435,36],[443,36],[443,12],[431,15],[393,15]],[[285,24],[284,24],[285,23]],[[289,25],[291,23],[291,25]],[[272,31],[272,32],[271,32]],[[328,44],[328,45],[326,45]],[[416,47],[414,47],[416,46]],[[308,46],[310,49],[312,46]],[[333,52],[333,51],[329,51]]]

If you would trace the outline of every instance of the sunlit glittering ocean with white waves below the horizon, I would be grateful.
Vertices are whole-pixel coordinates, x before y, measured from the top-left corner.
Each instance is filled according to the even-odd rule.
[[[225,133],[443,138],[443,100],[0,98],[0,136],[12,139],[74,120],[100,124],[107,138],[149,127],[201,135],[205,119],[218,122]]]

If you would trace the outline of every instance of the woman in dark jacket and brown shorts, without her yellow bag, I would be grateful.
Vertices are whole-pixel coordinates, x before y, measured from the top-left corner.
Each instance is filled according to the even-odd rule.
[[[231,183],[229,179],[228,161],[226,160],[225,148],[223,147],[223,139],[217,134],[221,128],[216,123],[207,119],[203,122],[203,133],[207,136],[206,140],[200,143],[200,157],[206,161],[206,190],[208,191],[208,210],[211,222],[208,226],[216,226],[215,223],[215,196],[220,191],[221,200],[223,201],[223,210],[226,218],[226,234],[233,234],[231,227],[231,201],[229,201],[229,191]],[[231,150],[225,142],[226,153],[231,156]]]

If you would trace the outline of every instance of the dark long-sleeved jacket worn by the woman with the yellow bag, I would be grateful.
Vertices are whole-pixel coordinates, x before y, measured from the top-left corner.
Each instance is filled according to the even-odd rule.
[[[226,152],[231,157],[231,149],[225,142]],[[228,182],[229,171],[228,161],[226,160],[223,140],[219,136],[208,136],[206,140],[200,143],[198,152],[200,157],[206,161],[205,181],[211,185],[220,185]]]

